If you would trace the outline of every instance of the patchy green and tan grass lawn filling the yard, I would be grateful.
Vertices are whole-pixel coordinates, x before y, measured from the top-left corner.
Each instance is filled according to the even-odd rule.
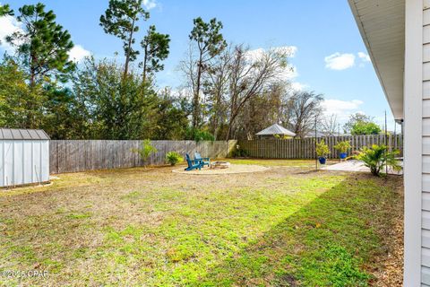
[[[383,286],[400,248],[401,178],[282,162],[221,176],[170,167],[64,174],[49,187],[1,191],[0,276],[49,274],[0,282]]]

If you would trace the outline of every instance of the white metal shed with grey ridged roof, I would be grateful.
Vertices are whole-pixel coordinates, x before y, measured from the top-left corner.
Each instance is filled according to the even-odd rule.
[[[49,136],[43,130],[0,128],[0,187],[49,181]]]

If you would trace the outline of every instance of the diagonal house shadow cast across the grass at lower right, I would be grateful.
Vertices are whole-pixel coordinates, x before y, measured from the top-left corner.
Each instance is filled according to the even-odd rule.
[[[401,178],[389,179],[348,176],[212,268],[197,285],[372,285],[372,274],[396,248],[387,230],[401,220]]]

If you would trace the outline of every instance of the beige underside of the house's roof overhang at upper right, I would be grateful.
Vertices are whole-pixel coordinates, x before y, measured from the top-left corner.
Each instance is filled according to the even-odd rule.
[[[348,0],[395,119],[403,118],[405,0]]]

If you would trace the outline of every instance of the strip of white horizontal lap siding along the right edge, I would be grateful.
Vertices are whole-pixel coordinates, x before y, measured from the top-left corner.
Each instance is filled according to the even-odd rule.
[[[421,283],[430,286],[430,0],[423,1]]]

